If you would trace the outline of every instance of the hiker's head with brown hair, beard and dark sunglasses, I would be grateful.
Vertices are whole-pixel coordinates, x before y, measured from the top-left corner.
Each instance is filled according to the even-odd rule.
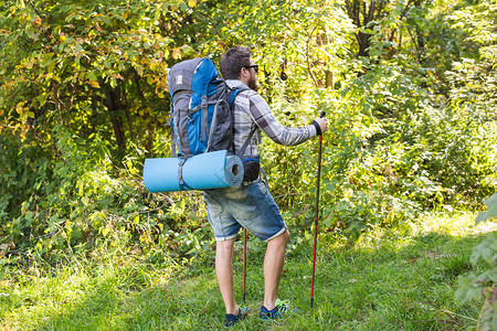
[[[251,55],[251,49],[245,46],[228,50],[220,61],[220,70],[224,79],[240,79],[250,88],[257,89],[257,66]]]

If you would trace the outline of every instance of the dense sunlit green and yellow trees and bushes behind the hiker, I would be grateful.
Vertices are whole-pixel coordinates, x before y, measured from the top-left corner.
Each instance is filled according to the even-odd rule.
[[[283,124],[330,120],[320,244],[477,213],[496,190],[495,0],[15,0],[0,13],[3,267],[116,246],[159,264],[212,257],[201,193],[150,194],[141,173],[171,156],[168,70],[236,44],[253,49]],[[262,154],[286,222],[308,232],[316,141],[265,139]],[[488,271],[462,301],[482,288],[495,301],[497,241],[485,243]]]

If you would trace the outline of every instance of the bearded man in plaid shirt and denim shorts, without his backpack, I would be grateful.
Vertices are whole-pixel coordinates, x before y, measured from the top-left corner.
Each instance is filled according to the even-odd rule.
[[[317,118],[311,125],[302,128],[288,128],[276,120],[267,103],[255,92],[257,65],[251,55],[248,47],[235,46],[220,62],[226,84],[242,90],[232,108],[235,152],[242,149],[252,130],[256,130],[257,135],[248,140],[242,159],[258,159],[257,137],[260,138],[261,130],[275,142],[286,146],[298,145],[325,132],[328,129],[325,118]],[[236,306],[233,290],[233,245],[242,226],[261,241],[267,242],[264,258],[264,305],[260,317],[281,317],[287,308],[277,300],[277,292],[289,233],[267,191],[267,183],[258,177],[244,181],[239,188],[205,191],[204,196],[209,222],[216,239],[215,271],[226,308],[225,324],[231,325],[247,314],[246,308],[239,309]]]

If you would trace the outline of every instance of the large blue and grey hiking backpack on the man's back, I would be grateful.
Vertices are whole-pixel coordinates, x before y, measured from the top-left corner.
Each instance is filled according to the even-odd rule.
[[[207,57],[173,65],[168,82],[172,98],[173,156],[187,159],[216,150],[234,154],[230,108],[240,89],[231,89]]]

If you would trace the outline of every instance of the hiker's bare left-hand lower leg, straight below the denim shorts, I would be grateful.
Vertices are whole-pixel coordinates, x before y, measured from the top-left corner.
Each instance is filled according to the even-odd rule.
[[[226,313],[239,313],[233,289],[233,245],[235,239],[216,242],[215,275],[219,289],[226,307]]]

